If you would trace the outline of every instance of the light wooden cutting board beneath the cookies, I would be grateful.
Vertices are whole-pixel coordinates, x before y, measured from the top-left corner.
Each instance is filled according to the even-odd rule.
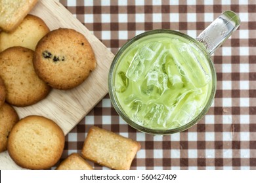
[[[35,105],[15,107],[20,118],[45,116],[60,125],[66,135],[108,93],[108,70],[114,54],[56,0],[39,1],[30,14],[42,18],[51,30],[65,27],[79,31],[85,35],[95,52],[96,69],[83,84],[68,91],[52,90],[46,99]],[[0,153],[0,169],[21,167],[5,151]]]

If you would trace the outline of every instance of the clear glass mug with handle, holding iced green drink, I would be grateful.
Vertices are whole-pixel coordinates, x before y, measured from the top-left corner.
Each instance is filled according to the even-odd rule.
[[[209,110],[216,91],[211,54],[240,25],[228,10],[196,39],[167,29],[137,35],[117,52],[108,75],[112,105],[135,129],[184,131]]]

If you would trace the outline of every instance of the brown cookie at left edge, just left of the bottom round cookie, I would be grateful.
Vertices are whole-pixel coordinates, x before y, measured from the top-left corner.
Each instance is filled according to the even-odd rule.
[[[9,133],[18,120],[18,114],[11,105],[4,103],[0,107],[0,152],[7,150]]]

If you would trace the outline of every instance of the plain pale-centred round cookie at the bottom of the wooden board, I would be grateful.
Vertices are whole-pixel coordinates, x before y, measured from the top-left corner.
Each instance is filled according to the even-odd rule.
[[[7,150],[13,161],[26,169],[49,169],[61,157],[62,129],[43,116],[27,116],[12,128]]]

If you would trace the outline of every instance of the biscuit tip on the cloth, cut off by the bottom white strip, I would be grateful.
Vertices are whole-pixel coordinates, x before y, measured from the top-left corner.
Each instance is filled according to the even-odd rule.
[[[79,154],[72,153],[58,165],[56,170],[93,170],[93,167]]]

